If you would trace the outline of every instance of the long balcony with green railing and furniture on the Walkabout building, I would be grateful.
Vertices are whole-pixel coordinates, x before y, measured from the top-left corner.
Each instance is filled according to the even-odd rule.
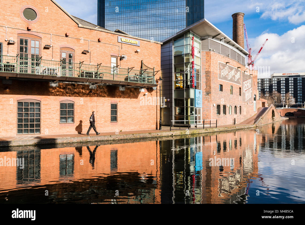
[[[88,65],[41,58],[0,55],[0,76],[15,79],[42,79],[50,82],[93,83],[130,87],[156,87],[154,69],[135,70]]]

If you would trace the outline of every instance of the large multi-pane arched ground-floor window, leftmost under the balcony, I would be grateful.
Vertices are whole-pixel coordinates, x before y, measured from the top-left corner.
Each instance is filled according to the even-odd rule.
[[[34,99],[17,101],[17,134],[40,134],[40,104]]]

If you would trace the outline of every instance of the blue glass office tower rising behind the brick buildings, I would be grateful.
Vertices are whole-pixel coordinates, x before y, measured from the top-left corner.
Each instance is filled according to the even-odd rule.
[[[98,0],[98,25],[162,41],[204,18],[204,0]]]

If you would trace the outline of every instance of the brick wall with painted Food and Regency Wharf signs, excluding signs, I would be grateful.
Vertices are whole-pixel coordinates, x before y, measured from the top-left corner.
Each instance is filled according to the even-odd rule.
[[[203,119],[216,120],[219,125],[233,124],[234,118],[236,124],[243,122],[257,113],[257,108],[261,107],[261,102],[258,101],[257,94],[257,71],[250,71],[245,66],[238,62],[225,57],[221,54],[202,51],[202,90],[203,90]],[[239,87],[241,85],[230,83],[224,80],[218,79],[218,61],[226,63],[233,67],[241,67],[242,72],[247,71],[248,74],[252,74],[252,91],[253,96],[257,96],[256,111],[254,111],[253,103],[247,104],[242,101],[242,96],[239,96]],[[240,69],[240,68],[239,68]],[[219,91],[219,84],[223,85],[223,91]],[[230,94],[230,86],[233,86],[233,94]],[[253,100],[253,99],[252,99]],[[215,106],[213,106],[215,104]],[[217,105],[221,105],[221,115],[216,114]],[[229,115],[229,107],[226,107],[226,115],[223,115],[223,105],[232,106],[232,114]],[[237,108],[237,114],[234,114],[234,106],[242,107],[242,114],[239,114],[239,108]]]

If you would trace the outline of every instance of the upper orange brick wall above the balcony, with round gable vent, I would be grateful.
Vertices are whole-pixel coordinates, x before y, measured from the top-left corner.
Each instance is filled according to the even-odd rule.
[[[25,5],[34,6],[40,15],[36,23],[30,24],[32,26],[31,31],[27,31],[29,24],[20,16],[20,9]],[[30,33],[41,36],[41,46],[50,45],[50,34],[52,34],[53,48],[42,48],[42,59],[52,60],[53,58],[55,61],[59,61],[59,46],[70,45],[75,50],[75,62],[84,61],[84,64],[91,62],[93,65],[102,63],[103,66],[110,66],[110,55],[115,53],[117,55],[127,55],[127,60],[118,60],[122,68],[135,67],[135,69],[140,69],[141,60],[143,60],[145,65],[151,68],[155,67],[155,70],[160,70],[160,44],[150,42],[149,40],[139,40],[140,46],[133,46],[117,41],[118,36],[124,36],[122,34],[79,28],[78,24],[50,0],[6,2],[5,10],[2,10],[0,14],[0,21],[0,25],[8,27],[7,39],[13,39],[16,42],[14,45],[7,45],[7,42],[5,42],[5,27],[0,27],[0,42],[3,42],[3,54],[5,55],[16,56],[18,46],[17,36],[21,35],[18,33]],[[66,32],[70,33],[69,37],[65,36]],[[102,42],[112,45],[99,43],[99,38],[102,38]],[[91,60],[90,53],[82,54],[83,50],[88,50],[87,40],[91,40]],[[135,51],[138,49],[140,49],[140,52],[136,53]]]

